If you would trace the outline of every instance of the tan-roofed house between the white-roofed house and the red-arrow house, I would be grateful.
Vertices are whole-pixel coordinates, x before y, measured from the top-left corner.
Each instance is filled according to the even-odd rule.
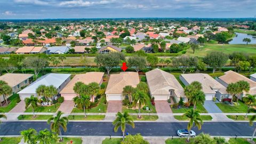
[[[101,72],[88,72],[85,74],[75,75],[75,77],[73,77],[71,81],[60,91],[61,97],[65,100],[72,100],[75,98],[78,94],[75,93],[73,88],[77,82],[82,82],[86,85],[95,82],[101,85],[103,82],[103,75],[104,73]],[[91,97],[91,101],[94,101],[94,97]]]

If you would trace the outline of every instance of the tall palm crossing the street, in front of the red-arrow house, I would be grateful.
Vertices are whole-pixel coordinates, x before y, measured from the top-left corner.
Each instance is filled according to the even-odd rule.
[[[127,111],[124,112],[124,114],[118,112],[116,114],[116,119],[113,122],[114,131],[117,132],[118,128],[121,127],[121,131],[123,132],[123,140],[124,140],[124,132],[126,128],[126,124],[131,125],[132,128],[135,127],[135,124],[133,123],[132,117],[128,114]]]

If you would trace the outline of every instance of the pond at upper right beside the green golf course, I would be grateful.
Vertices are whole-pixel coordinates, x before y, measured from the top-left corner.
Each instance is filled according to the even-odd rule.
[[[256,34],[254,34],[254,35],[242,34],[242,33],[235,33],[235,34],[236,34],[236,37],[231,39],[228,42],[229,44],[246,44],[245,42],[243,42],[244,38],[251,39],[251,43],[248,43],[248,44],[256,44]]]

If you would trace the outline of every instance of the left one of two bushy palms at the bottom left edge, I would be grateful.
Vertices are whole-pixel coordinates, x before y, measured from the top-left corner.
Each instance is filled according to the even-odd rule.
[[[28,129],[20,132],[20,135],[24,139],[24,142],[27,142],[28,144],[37,143],[36,134],[37,132],[35,129]]]

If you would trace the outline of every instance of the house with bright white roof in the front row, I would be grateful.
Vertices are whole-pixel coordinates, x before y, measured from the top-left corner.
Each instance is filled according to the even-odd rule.
[[[35,82],[31,83],[25,89],[18,92],[21,100],[29,98],[31,95],[37,97],[36,89],[39,85],[50,86],[53,85],[56,87],[58,93],[66,86],[70,81],[70,74],[46,74],[42,77],[39,77]]]

